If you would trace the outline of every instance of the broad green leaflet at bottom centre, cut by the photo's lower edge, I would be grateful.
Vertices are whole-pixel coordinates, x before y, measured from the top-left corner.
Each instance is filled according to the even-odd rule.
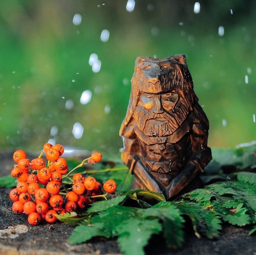
[[[117,227],[118,243],[126,255],[144,255],[144,246],[161,231],[158,219],[130,218]]]

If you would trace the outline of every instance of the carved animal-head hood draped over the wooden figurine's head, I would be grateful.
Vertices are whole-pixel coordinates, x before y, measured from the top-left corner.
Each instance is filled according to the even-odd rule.
[[[193,82],[187,68],[185,55],[170,56],[166,59],[153,59],[149,57],[138,57],[135,61],[132,87],[126,117],[120,129],[120,135],[133,120],[133,113],[139,102],[140,93],[165,93],[175,91],[178,100],[175,102],[170,115],[180,111],[182,105],[182,116],[179,116],[178,124],[181,125],[188,114],[193,111],[193,105],[198,101],[193,91]],[[174,116],[175,118],[175,116]]]

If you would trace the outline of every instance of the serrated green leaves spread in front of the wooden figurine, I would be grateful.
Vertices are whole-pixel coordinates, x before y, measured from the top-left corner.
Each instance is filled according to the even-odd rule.
[[[95,202],[82,217],[68,215],[59,219],[79,223],[69,237],[71,244],[98,236],[117,237],[124,254],[144,254],[150,237],[161,234],[167,246],[179,248],[184,242],[185,222],[191,222],[197,237],[210,239],[220,236],[222,222],[256,224],[256,174],[236,176],[236,180],[207,185],[171,202],[151,191],[128,191],[111,200]],[[250,234],[255,231],[256,226]]]

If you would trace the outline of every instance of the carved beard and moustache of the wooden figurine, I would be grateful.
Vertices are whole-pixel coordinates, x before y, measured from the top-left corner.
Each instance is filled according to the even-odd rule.
[[[142,105],[135,108],[134,119],[140,131],[146,136],[162,137],[173,134],[187,118],[190,110],[178,102],[171,113],[155,114],[147,112]]]

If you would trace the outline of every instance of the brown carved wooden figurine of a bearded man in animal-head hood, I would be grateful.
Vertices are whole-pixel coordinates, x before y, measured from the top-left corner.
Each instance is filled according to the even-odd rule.
[[[120,129],[121,157],[134,174],[132,189],[169,200],[198,188],[198,176],[212,159],[208,129],[185,55],[138,57]]]

